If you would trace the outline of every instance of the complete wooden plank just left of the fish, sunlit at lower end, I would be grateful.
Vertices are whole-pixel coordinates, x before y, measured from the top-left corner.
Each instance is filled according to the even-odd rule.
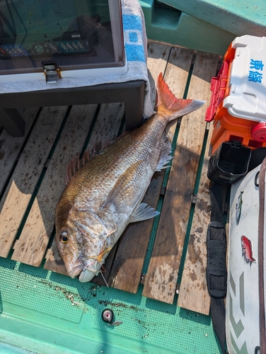
[[[55,206],[65,187],[67,165],[83,149],[96,108],[97,105],[71,108],[21,236],[14,245],[12,259],[36,266],[42,262],[54,227]]]

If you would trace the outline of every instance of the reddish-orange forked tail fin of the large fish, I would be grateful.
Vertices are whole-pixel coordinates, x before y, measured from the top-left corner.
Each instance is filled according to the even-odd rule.
[[[192,99],[176,98],[172,91],[170,91],[168,84],[163,80],[163,74],[160,73],[157,79],[157,96],[156,106],[158,111],[161,108],[168,111],[170,120],[174,120],[182,115],[186,115],[193,110],[204,105],[205,101],[197,101]]]

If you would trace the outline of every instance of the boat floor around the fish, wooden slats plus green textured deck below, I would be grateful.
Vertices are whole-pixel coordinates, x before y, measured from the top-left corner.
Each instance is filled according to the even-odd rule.
[[[149,43],[151,100],[163,72],[176,96],[207,103],[171,128],[172,167],[155,174],[145,197],[161,215],[127,228],[106,261],[109,287],[99,276],[64,275],[54,207],[71,158],[124,130],[123,104],[28,108],[25,137],[1,131],[0,353],[21,352],[7,345],[41,354],[220,353],[204,273],[212,132],[204,113],[219,60]],[[105,308],[120,326],[102,321]]]

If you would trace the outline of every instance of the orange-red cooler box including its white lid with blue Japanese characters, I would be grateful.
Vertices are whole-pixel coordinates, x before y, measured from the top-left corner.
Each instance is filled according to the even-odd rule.
[[[205,120],[214,120],[212,153],[223,142],[266,147],[266,37],[243,35],[229,46]]]

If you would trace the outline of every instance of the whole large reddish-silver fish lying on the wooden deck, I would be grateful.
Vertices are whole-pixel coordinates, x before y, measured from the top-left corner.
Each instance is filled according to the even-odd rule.
[[[175,98],[159,74],[156,113],[88,162],[75,161],[69,167],[55,226],[59,253],[72,278],[91,280],[127,224],[159,214],[141,200],[154,172],[165,169],[172,159],[168,128],[203,104]]]

